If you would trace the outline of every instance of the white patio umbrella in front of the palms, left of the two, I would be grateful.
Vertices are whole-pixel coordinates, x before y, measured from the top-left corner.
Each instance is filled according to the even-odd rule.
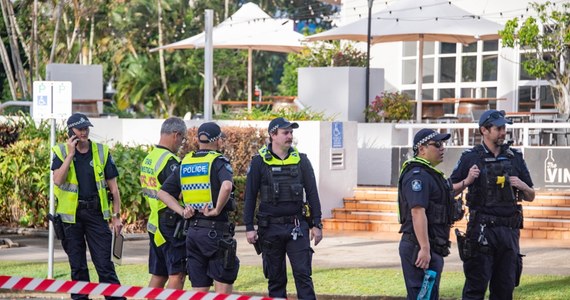
[[[252,102],[252,50],[295,52],[303,48],[303,35],[293,30],[293,21],[273,19],[254,3],[244,4],[228,19],[214,27],[214,48],[247,49],[247,108]],[[204,48],[205,33],[151,49]]]

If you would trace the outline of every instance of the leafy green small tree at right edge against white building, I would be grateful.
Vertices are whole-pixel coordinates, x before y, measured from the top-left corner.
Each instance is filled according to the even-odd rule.
[[[503,45],[518,46],[526,60],[528,74],[547,79],[558,92],[556,106],[562,113],[570,112],[570,3],[531,3],[537,17],[529,16],[507,21],[499,32]],[[528,51],[531,50],[531,51]]]

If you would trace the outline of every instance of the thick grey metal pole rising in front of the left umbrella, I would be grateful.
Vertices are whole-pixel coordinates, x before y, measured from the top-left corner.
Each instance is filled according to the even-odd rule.
[[[214,29],[214,10],[206,9],[206,40],[204,45],[204,120],[212,120],[212,102],[214,98],[214,47],[212,42]]]

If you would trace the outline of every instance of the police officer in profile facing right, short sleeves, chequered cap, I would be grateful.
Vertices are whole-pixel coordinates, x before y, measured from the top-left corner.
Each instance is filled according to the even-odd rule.
[[[451,184],[435,167],[443,161],[450,134],[422,129],[414,136],[414,157],[402,165],[398,182],[399,252],[407,299],[419,299],[425,270],[435,271],[430,299],[439,299],[443,258],[449,254],[449,230],[455,199]],[[422,298],[424,299],[424,298]]]

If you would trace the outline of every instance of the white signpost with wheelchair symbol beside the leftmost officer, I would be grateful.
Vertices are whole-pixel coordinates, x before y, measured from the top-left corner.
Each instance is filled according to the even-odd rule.
[[[34,81],[32,96],[32,118],[50,119],[50,149],[55,145],[55,119],[67,119],[71,115],[70,81]],[[53,151],[50,150],[50,157]],[[53,196],[53,173],[50,171],[49,213],[55,214]],[[48,278],[53,278],[53,224],[49,222]]]

